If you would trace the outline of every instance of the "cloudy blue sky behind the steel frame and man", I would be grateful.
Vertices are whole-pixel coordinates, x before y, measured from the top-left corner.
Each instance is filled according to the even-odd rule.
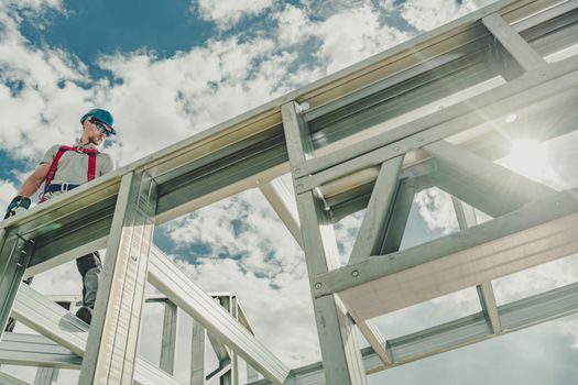
[[[114,114],[119,135],[105,150],[123,166],[490,2],[0,0],[0,206],[52,144],[79,136],[78,120],[94,107]],[[546,156],[552,167],[532,177],[576,187],[568,143],[577,142],[544,144],[558,157]],[[361,218],[336,224],[342,261]],[[403,246],[455,231],[447,194],[426,190],[415,198]],[[303,252],[258,190],[159,227],[155,243],[205,290],[236,293],[258,338],[287,366],[320,359]],[[65,264],[33,287],[78,294],[75,271]],[[494,288],[505,302],[576,280],[570,256]],[[375,322],[392,338],[476,311],[471,288]],[[151,361],[161,314],[145,309],[141,354]],[[578,317],[569,316],[372,375],[370,384],[575,384],[577,336]],[[177,376],[186,380],[183,367]]]

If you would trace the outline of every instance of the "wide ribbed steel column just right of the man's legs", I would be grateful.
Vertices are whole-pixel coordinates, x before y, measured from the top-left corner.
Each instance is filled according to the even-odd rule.
[[[152,244],[156,185],[122,177],[79,384],[132,384]]]

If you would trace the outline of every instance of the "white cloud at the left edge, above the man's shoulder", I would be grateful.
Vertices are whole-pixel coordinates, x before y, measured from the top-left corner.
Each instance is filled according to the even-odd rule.
[[[89,81],[86,66],[62,50],[31,46],[13,12],[1,13],[0,25],[0,145],[19,157],[37,157],[47,143],[78,133],[80,111],[89,106],[83,100],[91,94],[77,85]]]

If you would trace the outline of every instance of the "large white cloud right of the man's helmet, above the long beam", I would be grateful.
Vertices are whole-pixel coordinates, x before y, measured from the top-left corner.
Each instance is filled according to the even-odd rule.
[[[102,90],[118,117],[121,164],[220,123],[307,81],[315,72],[288,72],[295,55],[274,41],[238,36],[159,59],[148,52],[103,57],[102,68],[122,84]],[[143,135],[146,132],[146,135]]]

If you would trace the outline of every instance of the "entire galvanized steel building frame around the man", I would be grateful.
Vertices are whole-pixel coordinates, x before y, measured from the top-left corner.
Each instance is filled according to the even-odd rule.
[[[207,330],[218,375],[230,373],[221,383],[239,382],[240,358],[264,377],[253,384],[366,384],[368,373],[576,312],[578,283],[498,306],[492,280],[578,252],[578,190],[493,162],[509,138],[577,130],[577,36],[578,0],[500,1],[1,222],[0,320],[12,312],[45,337],[6,333],[0,362],[12,343],[21,364],[81,363],[80,384],[178,384],[174,329],[163,333],[162,370],[137,358],[146,280],[168,304],[165,326],[176,309],[195,319],[197,352]],[[294,196],[276,179],[287,172]],[[400,250],[414,195],[433,186],[452,196],[460,231]],[[236,306],[223,309],[152,244],[155,224],[249,188],[304,249],[320,363],[290,371],[236,321]],[[493,219],[478,224],[472,208]],[[361,209],[341,266],[332,223]],[[20,282],[100,248],[87,336]],[[478,314],[393,340],[371,323],[468,287]],[[193,384],[214,381],[203,367],[194,362]],[[22,382],[0,372],[0,383]]]

